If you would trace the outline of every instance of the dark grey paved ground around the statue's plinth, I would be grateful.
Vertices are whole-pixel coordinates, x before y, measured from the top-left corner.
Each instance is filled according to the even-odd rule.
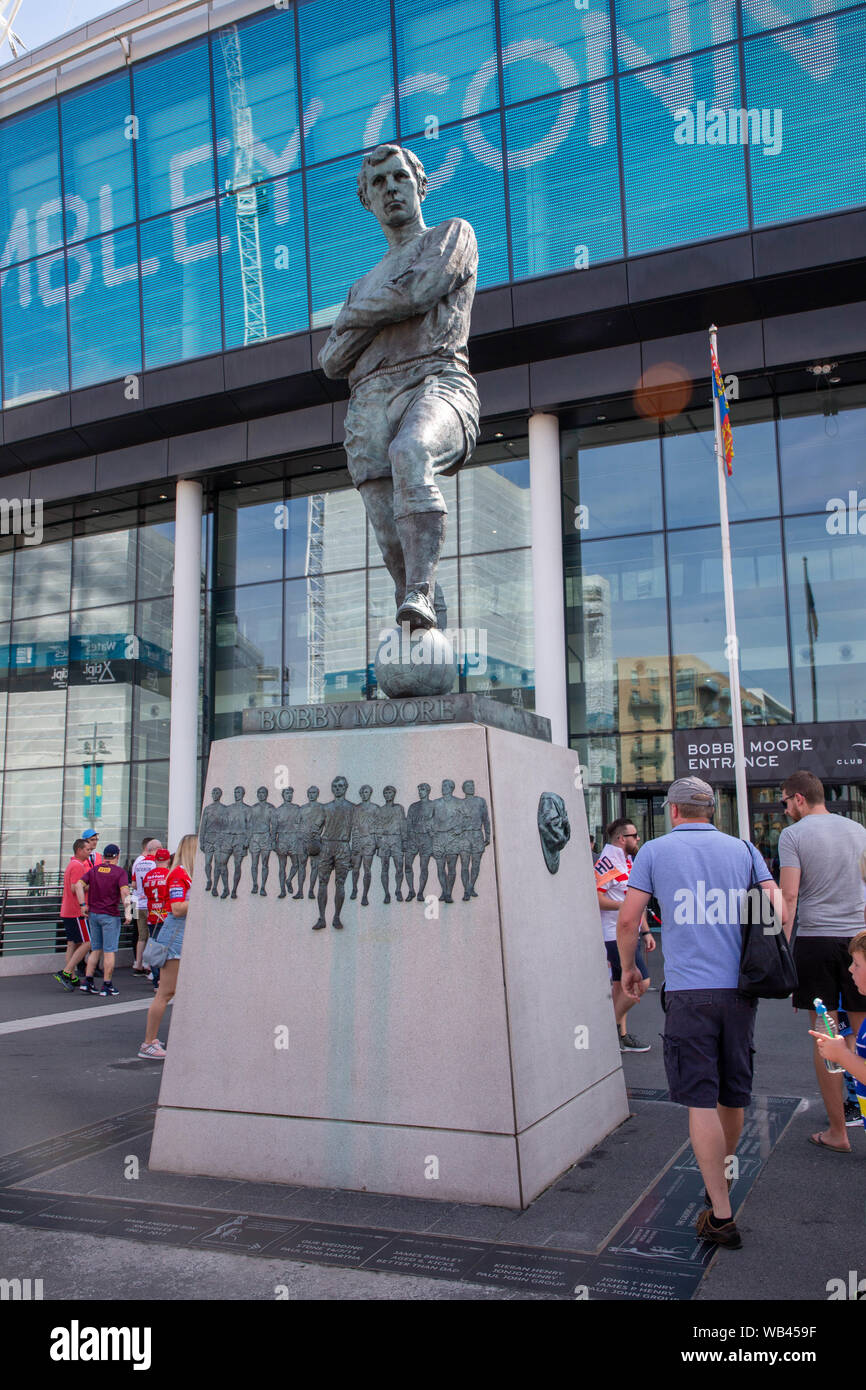
[[[659,972],[660,952],[653,959]],[[64,994],[50,977],[0,980],[0,1068],[4,1106],[0,1152],[47,1141],[96,1120],[156,1101],[160,1065],[139,1062],[149,987],[128,970],[118,974],[117,1001]],[[140,1008],[132,1005],[140,1004]],[[129,1008],[126,1008],[129,1005]],[[63,1015],[76,1022],[53,1023]],[[81,1017],[82,1022],[78,1022]],[[687,1140],[685,1113],[652,1097],[664,1088],[659,995],[631,1015],[652,1051],[626,1056],[634,1090],[632,1118],[575,1165],[525,1212],[450,1202],[318,1191],[278,1184],[186,1179],[147,1170],[149,1138],[99,1147],[33,1172],[18,1184],[43,1193],[89,1194],[133,1202],[178,1204],[214,1212],[257,1212],[377,1232],[416,1232],[510,1247],[596,1252],[653,1184],[664,1183]],[[22,1027],[21,1020],[33,1026]],[[33,1023],[35,1020],[35,1023]],[[824,1154],[808,1144],[823,1127],[806,1020],[787,1004],[765,1002],[758,1022],[756,1097],[794,1097],[787,1129],[771,1145],[756,1120],[755,1150],[765,1161],[748,1190],[738,1223],[741,1251],[720,1251],[703,1275],[696,1301],[822,1300],[827,1280],[866,1276],[866,1133],[849,1130],[853,1152]],[[767,1106],[765,1106],[766,1109]],[[769,1106],[771,1109],[771,1104]],[[792,1113],[790,1123],[787,1116]],[[142,1122],[139,1120],[139,1129]],[[146,1125],[146,1120],[145,1120]],[[677,1155],[680,1158],[677,1159]],[[138,1162],[133,1162],[138,1161]],[[51,1162],[54,1162],[51,1159]],[[138,1176],[131,1176],[138,1172]],[[671,1170],[673,1172],[673,1170]],[[7,1179],[10,1180],[10,1179]],[[31,1200],[31,1198],[28,1198]],[[644,1202],[645,1208],[646,1202]],[[626,1222],[626,1223],[624,1223]],[[220,1300],[510,1300],[544,1298],[525,1290],[459,1279],[252,1258],[220,1250],[179,1250],[108,1236],[0,1226],[0,1276],[42,1277],[44,1297]]]

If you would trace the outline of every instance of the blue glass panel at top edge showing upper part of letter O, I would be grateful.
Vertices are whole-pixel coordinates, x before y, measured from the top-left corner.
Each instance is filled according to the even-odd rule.
[[[499,14],[506,106],[612,72],[606,0],[584,13],[562,0],[502,0]]]

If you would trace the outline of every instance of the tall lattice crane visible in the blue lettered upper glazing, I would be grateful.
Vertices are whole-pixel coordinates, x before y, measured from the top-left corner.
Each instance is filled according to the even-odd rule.
[[[17,0],[21,3],[21,0]],[[220,46],[228,81],[232,111],[232,147],[235,167],[225,190],[235,200],[238,222],[238,254],[240,257],[240,285],[243,289],[243,342],[260,342],[268,335],[264,310],[264,282],[261,278],[261,245],[259,240],[259,210],[265,190],[253,185],[253,117],[246,104],[240,35],[236,24],[220,29]]]

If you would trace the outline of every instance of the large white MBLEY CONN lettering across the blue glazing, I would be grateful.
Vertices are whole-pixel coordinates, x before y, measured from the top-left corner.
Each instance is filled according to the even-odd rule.
[[[766,10],[769,0],[744,0],[744,7],[766,24]],[[792,17],[777,6],[769,6],[773,11],[773,25],[792,22]],[[817,7],[817,0],[816,0]],[[678,0],[669,0],[671,38],[677,36],[678,46],[689,42],[688,35],[677,31],[683,26],[683,10]],[[521,39],[510,43],[502,50],[503,68],[512,68],[521,63],[541,64],[549,68],[559,83],[562,93],[559,108],[552,113],[552,122],[548,133],[525,149],[509,149],[505,156],[502,149],[491,143],[484,132],[480,114],[484,110],[484,97],[489,86],[498,78],[499,58],[492,54],[468,79],[463,97],[464,124],[459,129],[449,132],[443,140],[445,152],[436,167],[432,160],[428,163],[428,177],[431,190],[443,188],[455,177],[466,156],[471,156],[478,164],[502,171],[503,164],[509,170],[527,170],[535,164],[549,160],[563,145],[574,129],[581,101],[588,103],[588,133],[589,146],[603,146],[616,138],[616,122],[612,111],[612,83],[599,81],[610,71],[610,26],[602,14],[588,13],[581,15],[581,25],[585,40],[587,70],[578,72],[573,58],[564,49],[545,39]],[[631,36],[619,25],[616,28],[617,47],[620,58],[630,68],[641,68],[642,64],[656,61],[652,54],[645,53]],[[733,42],[735,38],[731,28],[731,13],[716,14],[713,10],[713,42],[716,44]],[[838,35],[835,18],[822,18],[809,25],[809,31],[791,29],[767,36],[796,65],[806,72],[816,83],[823,83],[838,67]],[[730,61],[730,50],[717,49],[713,53],[714,92],[713,106],[727,108],[734,99],[734,67]],[[689,57],[677,58],[664,67],[635,71],[634,81],[642,83],[651,92],[660,107],[669,114],[688,107],[695,99],[692,64]],[[585,90],[573,90],[581,83],[594,82]],[[450,78],[441,72],[416,72],[405,78],[398,88],[400,97],[418,92],[442,95],[450,88]],[[363,131],[363,145],[374,145],[393,110],[393,93],[385,93],[374,103],[370,117]],[[303,113],[304,136],[313,129],[317,121],[327,114],[325,104],[313,97]],[[282,150],[271,149],[259,139],[254,131],[254,110],[250,111],[252,153],[264,171],[264,177],[275,179],[274,189],[274,221],[282,225],[289,221],[289,190],[286,177],[299,163],[300,132],[295,129]],[[222,139],[217,145],[220,154],[227,154],[231,145]],[[189,235],[189,220],[195,215],[203,199],[215,197],[211,186],[206,192],[197,192],[193,197],[186,190],[188,171],[196,165],[206,164],[211,158],[211,146],[199,145],[190,149],[178,150],[170,161],[170,190],[171,190],[171,220],[172,220],[172,257],[177,264],[185,265],[192,261],[206,260],[218,253],[227,254],[231,246],[228,236],[211,236],[204,240],[193,240]],[[44,307],[63,303],[67,297],[75,299],[82,295],[95,274],[101,274],[106,286],[113,288],[125,281],[156,275],[160,270],[160,260],[156,256],[145,257],[140,263],[129,260],[126,264],[118,263],[115,252],[115,218],[113,214],[114,193],[108,182],[99,190],[99,225],[92,227],[90,213],[83,199],[67,195],[64,199],[53,197],[43,203],[32,220],[26,208],[19,208],[11,218],[8,236],[0,252],[0,285],[6,284],[8,275],[18,279],[18,303],[26,309],[35,296]],[[195,203],[195,207],[193,207]],[[72,231],[67,238],[67,247],[63,249],[64,214],[72,222]],[[100,235],[99,242],[83,243],[86,236]],[[68,285],[56,284],[64,279],[54,271],[61,267],[64,256],[68,261]],[[31,257],[42,257],[31,260]]]

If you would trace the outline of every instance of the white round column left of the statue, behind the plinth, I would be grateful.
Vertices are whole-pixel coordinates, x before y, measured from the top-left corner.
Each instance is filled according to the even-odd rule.
[[[199,828],[199,639],[202,605],[202,484],[178,482],[171,616],[171,742],[168,848]]]

